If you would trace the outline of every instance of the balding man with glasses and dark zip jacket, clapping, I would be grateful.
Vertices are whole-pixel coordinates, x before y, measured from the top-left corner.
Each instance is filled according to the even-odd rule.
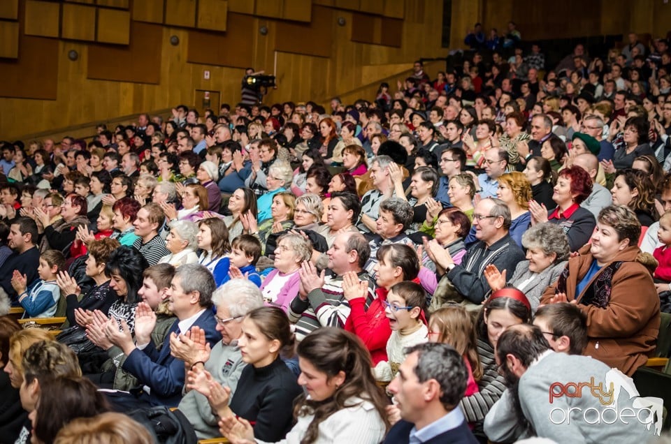
[[[484,268],[493,264],[507,276],[517,267],[517,262],[524,260],[521,251],[514,239],[510,237],[511,216],[510,209],[503,200],[483,199],[475,206],[473,212],[473,226],[475,238],[478,240],[470,246],[463,256],[461,265],[456,265],[447,249],[437,241],[424,241],[424,251],[428,253],[436,265],[449,270],[447,279],[463,297],[472,304],[480,304],[489,293],[490,287],[484,277]],[[440,280],[441,276],[437,276]]]

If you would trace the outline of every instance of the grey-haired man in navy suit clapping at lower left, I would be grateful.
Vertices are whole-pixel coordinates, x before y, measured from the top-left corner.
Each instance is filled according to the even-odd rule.
[[[184,362],[170,353],[170,338],[185,334],[191,327],[198,326],[205,331],[205,341],[214,346],[221,335],[217,333],[217,320],[212,313],[212,292],[215,280],[207,268],[200,264],[182,265],[168,289],[168,309],[177,320],[170,328],[163,346],[157,350],[151,341],[156,325],[156,314],[144,302],[138,304],[135,317],[135,341],[128,328],[123,325],[119,331],[116,320],[106,326],[106,333],[116,346],[127,356],[122,368],[138,378],[140,384],[149,388],[139,394],[140,406],[178,406],[185,384]],[[117,403],[115,403],[117,404]]]

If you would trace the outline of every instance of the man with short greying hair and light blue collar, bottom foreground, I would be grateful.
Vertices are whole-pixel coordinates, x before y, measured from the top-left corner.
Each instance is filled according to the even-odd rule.
[[[477,443],[459,408],[468,380],[463,357],[444,343],[421,343],[408,351],[387,387],[401,420],[384,443]]]

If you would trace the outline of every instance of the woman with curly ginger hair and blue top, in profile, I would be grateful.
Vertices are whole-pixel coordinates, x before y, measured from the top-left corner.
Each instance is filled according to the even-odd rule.
[[[522,235],[531,224],[531,213],[529,213],[529,201],[532,198],[531,185],[521,172],[507,172],[498,178],[498,190],[496,197],[503,200],[510,208],[512,223],[510,237],[519,246],[522,245]]]

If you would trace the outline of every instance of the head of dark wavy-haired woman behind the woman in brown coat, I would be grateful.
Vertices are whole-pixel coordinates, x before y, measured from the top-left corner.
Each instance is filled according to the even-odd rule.
[[[613,205],[626,205],[632,209],[642,226],[649,227],[658,219],[655,186],[644,171],[630,168],[619,170],[615,173],[610,193]]]

